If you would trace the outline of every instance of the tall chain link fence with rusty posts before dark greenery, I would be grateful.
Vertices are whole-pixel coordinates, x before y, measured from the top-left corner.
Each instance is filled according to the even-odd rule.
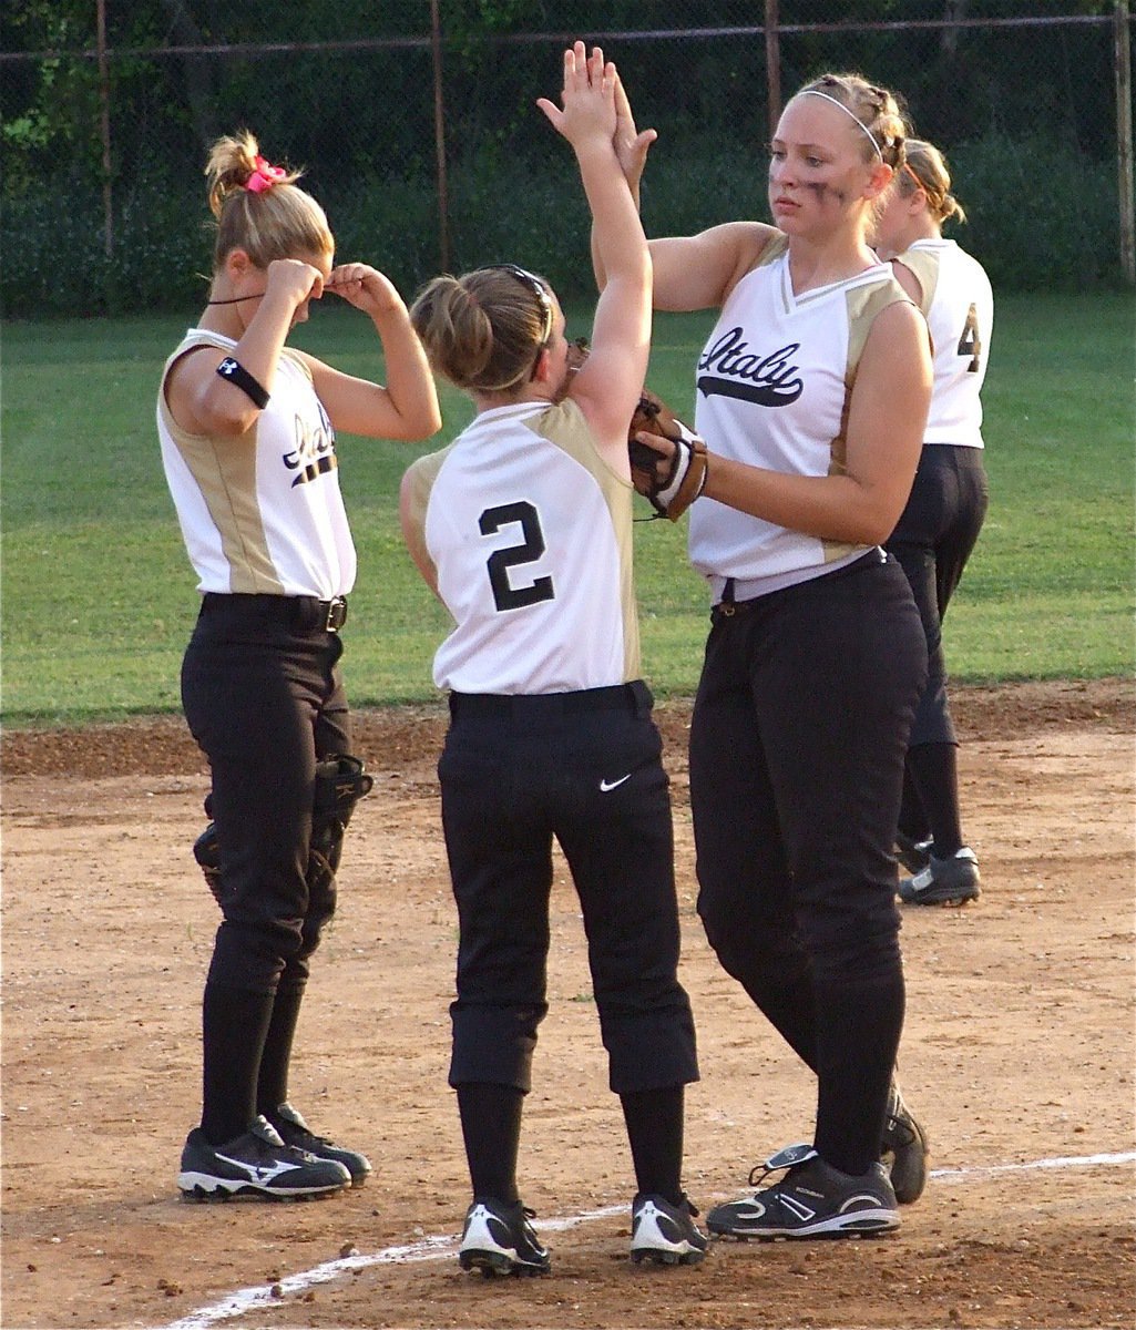
[[[946,150],[995,282],[1132,282],[1125,0],[7,0],[4,313],[193,307],[205,156],[238,128],[404,293],[507,257],[591,294],[571,152],[533,105],[575,37],[658,130],[648,234],[765,217],[780,104],[855,69]]]

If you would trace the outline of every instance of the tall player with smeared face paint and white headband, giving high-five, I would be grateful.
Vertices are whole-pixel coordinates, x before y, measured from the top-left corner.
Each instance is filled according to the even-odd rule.
[[[653,134],[619,101],[637,190]],[[754,1194],[706,1217],[742,1238],[889,1233],[926,1177],[926,1136],[894,1081],[893,846],[927,660],[881,541],[911,488],[931,355],[921,313],[866,242],[905,133],[886,89],[826,74],[778,121],[776,225],[650,242],[654,307],[718,310],[696,371],[709,471],[689,519],[713,602],[690,728],[698,912],[818,1080],[813,1140],[770,1156]],[[752,1097],[760,1112],[760,1084]]]

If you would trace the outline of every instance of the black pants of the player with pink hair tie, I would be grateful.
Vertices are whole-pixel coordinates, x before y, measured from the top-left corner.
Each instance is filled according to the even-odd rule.
[[[206,596],[182,661],[182,706],[209,758],[229,894],[212,984],[258,994],[302,987],[318,942],[318,927],[305,928],[315,763],[350,747],[343,644],[325,629],[319,605]]]

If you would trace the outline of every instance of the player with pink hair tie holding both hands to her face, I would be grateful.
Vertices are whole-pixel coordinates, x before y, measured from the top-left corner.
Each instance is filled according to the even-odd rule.
[[[339,674],[355,549],[335,430],[420,439],[440,424],[406,306],[363,263],[333,267],[319,205],[247,133],[214,144],[217,218],[205,314],[170,355],[158,436],[201,610],[182,702],[213,778],[197,853],[223,910],[205,984],[201,1125],[178,1186],[190,1197],[302,1197],[371,1166],[289,1105],[309,958],[335,908],[353,798]],[[367,314],[387,387],[285,346],[323,291]],[[356,790],[362,789],[356,786]],[[318,850],[317,850],[318,842]]]

